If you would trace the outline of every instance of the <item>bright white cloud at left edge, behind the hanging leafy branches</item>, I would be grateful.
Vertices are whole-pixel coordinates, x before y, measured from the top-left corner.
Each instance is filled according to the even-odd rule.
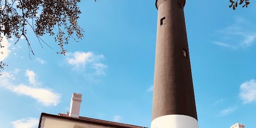
[[[9,44],[8,40],[6,39],[5,36],[3,36],[3,34],[1,35],[3,37],[2,41],[0,42],[2,44],[2,48],[0,48],[0,52],[3,52],[0,53],[0,61],[3,61],[4,59],[6,59],[9,55],[9,53],[11,52],[9,50],[9,47],[11,46],[11,44]]]

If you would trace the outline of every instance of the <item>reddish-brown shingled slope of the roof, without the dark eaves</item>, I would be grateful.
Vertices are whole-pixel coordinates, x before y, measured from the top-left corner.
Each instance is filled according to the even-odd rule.
[[[136,126],[136,125],[128,125],[128,124],[123,124],[123,123],[118,123],[118,122],[111,122],[111,121],[106,121],[106,120],[101,120],[101,119],[93,119],[93,118],[88,118],[88,117],[82,117],[79,116],[79,118],[77,117],[71,117],[67,114],[58,114],[59,116],[63,116],[66,117],[67,119],[80,119],[81,122],[88,122],[88,123],[92,123],[92,124],[96,124],[96,125],[104,125],[104,126],[110,126],[110,127],[116,127],[116,128],[146,128],[146,127],[141,127],[141,126]],[[78,120],[76,120],[78,121]]]

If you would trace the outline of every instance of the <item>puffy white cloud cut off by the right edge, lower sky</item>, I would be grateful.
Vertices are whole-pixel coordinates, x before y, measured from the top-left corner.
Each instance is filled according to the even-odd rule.
[[[256,81],[251,79],[240,85],[239,97],[244,101],[244,104],[256,101]]]

